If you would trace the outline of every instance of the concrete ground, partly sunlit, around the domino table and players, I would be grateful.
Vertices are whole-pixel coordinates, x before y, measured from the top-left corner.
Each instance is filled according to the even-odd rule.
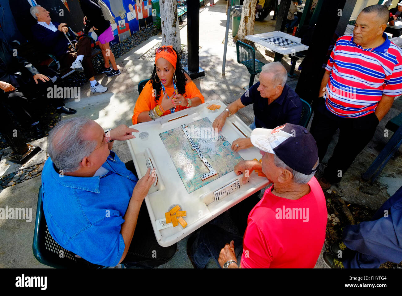
[[[226,1],[218,0],[215,7],[203,6],[200,9],[200,37],[199,54],[200,67],[205,70],[205,77],[195,79],[194,82],[201,90],[205,101],[219,99],[226,105],[238,99],[242,93],[242,86],[248,85],[249,74],[246,68],[236,62],[236,47],[229,44],[226,59],[225,75],[222,75],[222,58],[224,52],[224,35],[226,26]],[[254,33],[263,33],[274,31],[275,21],[271,21],[272,16],[268,16],[264,22],[256,22]],[[231,32],[231,31],[230,31]],[[180,30],[182,44],[187,44],[187,26]],[[108,78],[105,75],[98,75],[96,79],[109,89],[106,93],[92,95],[90,94],[89,83],[81,88],[80,101],[67,99],[66,106],[74,108],[77,113],[72,116],[86,116],[98,122],[104,129],[113,128],[119,124],[131,125],[131,116],[135,101],[138,97],[137,85],[142,79],[150,76],[153,68],[153,62],[140,60],[139,57],[161,41],[161,36],[151,37],[141,45],[117,60],[117,65],[121,75]],[[265,48],[257,46],[257,58],[265,63],[273,62],[273,58],[265,56]],[[298,61],[299,63],[300,61]],[[290,59],[284,57],[282,60],[284,66],[290,69]],[[298,65],[297,65],[298,66]],[[296,66],[296,70],[297,70]],[[297,71],[295,72],[298,73]],[[256,77],[255,82],[258,77]],[[288,79],[290,87],[295,89],[297,78]],[[384,137],[384,126],[388,120],[402,111],[402,101],[397,99],[389,114],[382,120],[377,128],[373,140],[367,145],[363,152],[356,158],[352,167],[345,174],[340,182],[332,186],[332,190],[337,191],[343,199],[364,204],[372,209],[377,209],[381,203],[390,197],[400,186],[402,180],[402,162],[400,152],[396,153],[384,168],[380,178],[373,186],[369,186],[360,178],[384,147],[389,138]],[[238,116],[246,123],[250,124],[254,119],[252,106],[243,108],[238,112]],[[71,116],[64,116],[63,119]],[[390,132],[390,135],[392,132]],[[336,144],[337,136],[328,147],[328,153],[323,168],[332,153]],[[43,145],[42,149],[45,149]],[[125,142],[116,141],[113,150],[119,155],[122,161],[129,161],[131,155]],[[27,166],[32,166],[43,161],[31,160]],[[41,160],[41,161],[40,161]],[[36,163],[35,163],[36,161]],[[0,163],[0,173],[9,174],[11,171],[19,170],[4,168],[8,166],[5,160]],[[318,176],[320,176],[320,172]],[[0,267],[5,268],[46,268],[40,264],[32,253],[32,240],[34,233],[34,223],[37,208],[37,193],[40,186],[40,178],[32,178],[15,186],[8,187],[0,192],[0,208],[32,208],[32,221],[27,223],[23,219],[0,219]],[[218,217],[219,223],[227,224],[228,228],[233,228],[227,213]],[[191,263],[186,254],[187,238],[180,240],[177,244],[177,252],[173,259],[160,268],[191,268]],[[213,261],[210,261],[208,267],[217,267]],[[321,258],[318,259],[316,268],[326,268]]]

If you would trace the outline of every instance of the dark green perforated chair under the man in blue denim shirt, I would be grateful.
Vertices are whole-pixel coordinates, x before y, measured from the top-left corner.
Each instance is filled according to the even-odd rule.
[[[32,250],[35,258],[42,264],[55,268],[100,268],[102,266],[89,263],[74,253],[62,248],[51,236],[42,205],[43,189],[39,188],[38,206],[36,209],[35,232]]]

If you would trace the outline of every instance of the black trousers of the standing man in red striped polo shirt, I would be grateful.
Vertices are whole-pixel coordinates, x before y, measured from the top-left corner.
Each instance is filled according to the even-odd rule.
[[[359,118],[336,116],[328,111],[322,97],[318,100],[310,132],[317,142],[320,162],[325,156],[332,136],[339,128],[338,143],[324,170],[324,178],[334,184],[342,179],[356,156],[373,138],[379,121],[374,113]]]

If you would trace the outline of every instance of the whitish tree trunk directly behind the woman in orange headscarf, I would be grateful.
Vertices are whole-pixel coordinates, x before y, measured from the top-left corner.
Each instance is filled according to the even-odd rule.
[[[160,24],[162,27],[162,45],[171,45],[181,53],[180,27],[178,25],[177,1],[160,0]]]

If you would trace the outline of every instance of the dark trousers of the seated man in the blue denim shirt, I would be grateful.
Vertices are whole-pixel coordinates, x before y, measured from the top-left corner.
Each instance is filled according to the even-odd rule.
[[[127,170],[130,170],[137,176],[132,160],[128,161],[125,166]],[[168,247],[162,247],[158,244],[148,209],[145,201],[143,201],[139,210],[133,239],[122,263],[127,267],[156,267],[172,259],[174,253],[176,253],[176,249],[176,244]]]

